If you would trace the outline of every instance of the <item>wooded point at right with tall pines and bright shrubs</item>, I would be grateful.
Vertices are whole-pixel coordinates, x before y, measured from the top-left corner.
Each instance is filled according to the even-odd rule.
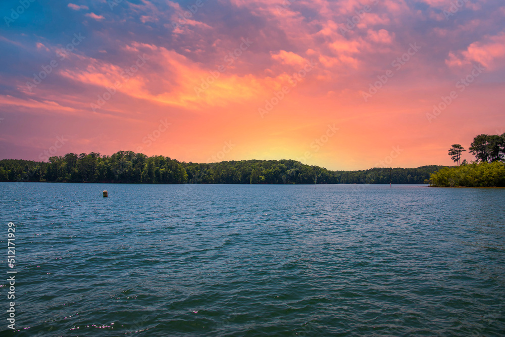
[[[476,157],[470,164],[461,162],[465,152],[460,144],[453,144],[448,155],[457,167],[444,167],[431,174],[434,187],[505,187],[505,133],[479,134],[474,137],[469,152]]]

